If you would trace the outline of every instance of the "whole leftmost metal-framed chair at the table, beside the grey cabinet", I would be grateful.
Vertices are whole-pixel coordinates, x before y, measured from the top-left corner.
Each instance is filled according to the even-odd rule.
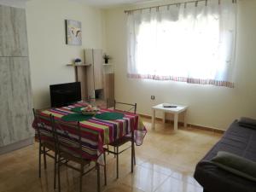
[[[34,127],[36,129],[36,138],[39,143],[39,177],[41,177],[41,156],[44,155],[44,169],[47,168],[46,156],[55,160],[55,176],[54,176],[54,189],[56,186],[56,163],[57,163],[57,153],[56,153],[56,143],[55,143],[55,132],[52,125],[50,124],[51,115],[49,117],[40,114],[39,110],[33,108],[34,114]],[[45,120],[45,121],[44,121]],[[44,122],[48,122],[46,125]],[[50,154],[53,152],[53,154]]]

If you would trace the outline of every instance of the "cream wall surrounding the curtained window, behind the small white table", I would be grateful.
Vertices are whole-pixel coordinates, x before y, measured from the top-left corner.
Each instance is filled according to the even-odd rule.
[[[150,114],[151,106],[160,102],[188,105],[189,123],[218,129],[226,129],[240,116],[256,118],[255,10],[255,0],[238,2],[236,88],[230,89],[172,81],[127,79],[124,9],[108,9],[105,13],[106,44],[115,64],[116,99],[137,102],[138,112],[145,114]],[[156,96],[156,100],[151,101],[151,95]]]

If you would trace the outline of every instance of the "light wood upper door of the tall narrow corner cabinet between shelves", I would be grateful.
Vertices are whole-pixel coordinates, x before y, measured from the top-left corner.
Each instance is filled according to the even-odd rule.
[[[102,49],[93,49],[94,89],[103,89]]]

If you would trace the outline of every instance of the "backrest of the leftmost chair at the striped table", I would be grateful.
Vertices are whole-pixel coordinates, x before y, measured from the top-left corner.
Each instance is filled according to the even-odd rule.
[[[36,138],[38,138],[38,142],[49,142],[55,145],[55,132],[50,120],[51,115],[44,116],[40,110],[35,110],[34,108],[33,114],[33,126],[36,131]]]

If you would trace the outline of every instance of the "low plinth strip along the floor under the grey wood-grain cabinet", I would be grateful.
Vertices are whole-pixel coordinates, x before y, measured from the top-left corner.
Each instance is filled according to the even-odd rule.
[[[12,143],[3,147],[0,147],[0,154],[7,154],[9,152],[15,151],[19,148],[24,148],[28,145],[32,145],[34,143],[34,137],[29,137],[17,143]]]

